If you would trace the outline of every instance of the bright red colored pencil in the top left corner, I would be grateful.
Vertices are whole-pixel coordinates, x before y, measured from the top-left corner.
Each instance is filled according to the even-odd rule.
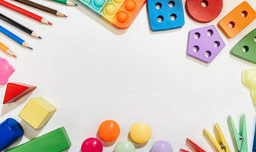
[[[23,8],[18,7],[18,6],[15,6],[14,4],[8,3],[8,2],[3,1],[3,0],[0,0],[0,4],[5,6],[6,8],[11,8],[15,11],[18,11],[18,12],[22,13],[23,15],[27,15],[30,18],[34,18],[35,20],[38,20],[41,23],[53,25],[51,22],[48,22],[48,20],[42,18],[41,16],[35,15],[34,13],[31,13],[30,11],[27,11]]]

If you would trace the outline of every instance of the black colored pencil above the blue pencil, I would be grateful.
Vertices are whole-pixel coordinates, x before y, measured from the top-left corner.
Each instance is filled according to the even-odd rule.
[[[14,25],[15,27],[17,28],[20,28],[20,30],[23,30],[24,32],[26,32],[27,34],[31,35],[32,37],[35,37],[35,38],[39,38],[39,39],[42,39],[41,37],[39,37],[39,35],[37,35],[33,30],[30,30],[29,28],[21,25],[20,23],[12,20],[11,18],[8,18],[7,16],[3,15],[0,13],[0,18],[2,20],[4,20],[5,22],[8,22],[10,23],[11,25]]]

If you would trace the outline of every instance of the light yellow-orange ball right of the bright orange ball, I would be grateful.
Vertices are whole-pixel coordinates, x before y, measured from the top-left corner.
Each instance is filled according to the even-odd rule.
[[[136,123],[132,125],[130,130],[131,138],[136,143],[142,144],[150,140],[151,129],[150,126],[143,123]]]

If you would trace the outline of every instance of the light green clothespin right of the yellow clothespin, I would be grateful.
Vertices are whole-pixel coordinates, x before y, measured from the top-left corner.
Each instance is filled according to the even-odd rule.
[[[247,144],[247,132],[246,132],[246,120],[245,114],[240,119],[240,130],[236,130],[236,126],[232,120],[232,117],[229,115],[227,118],[227,124],[230,126],[231,134],[234,136],[234,140],[236,141],[236,148],[239,152],[248,152],[248,144]]]

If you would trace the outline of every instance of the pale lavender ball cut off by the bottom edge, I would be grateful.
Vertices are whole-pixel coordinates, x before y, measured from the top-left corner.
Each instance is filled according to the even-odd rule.
[[[157,141],[153,144],[151,152],[172,152],[172,145],[167,141]]]

